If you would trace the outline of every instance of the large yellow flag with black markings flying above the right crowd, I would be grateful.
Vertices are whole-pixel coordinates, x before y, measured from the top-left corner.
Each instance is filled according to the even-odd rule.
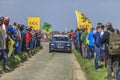
[[[87,28],[88,32],[90,32],[92,28],[92,24],[90,20],[80,11],[75,11],[77,17],[78,28]]]

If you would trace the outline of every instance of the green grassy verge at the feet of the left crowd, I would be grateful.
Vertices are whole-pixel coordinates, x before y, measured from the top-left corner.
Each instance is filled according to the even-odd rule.
[[[43,47],[40,46],[40,47],[37,47],[37,48],[29,51],[28,53],[27,52],[22,52],[19,55],[15,55],[14,57],[10,57],[8,59],[9,67],[16,68],[20,63],[23,63],[23,62],[27,61],[28,58],[31,58],[32,56],[34,56],[42,48]],[[0,61],[0,72],[3,71],[3,65],[4,65],[4,62],[2,60],[2,61]]]

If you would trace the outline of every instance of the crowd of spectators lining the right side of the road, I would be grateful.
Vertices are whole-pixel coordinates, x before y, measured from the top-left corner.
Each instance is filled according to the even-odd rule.
[[[75,32],[71,30],[68,36],[73,39],[75,48],[83,59],[94,59],[96,71],[101,70],[99,67],[99,61],[101,61],[105,62],[108,80],[120,77],[120,75],[117,76],[120,66],[120,31],[114,29],[112,23],[109,22],[105,26],[98,23],[96,29],[92,28],[90,32],[84,27],[77,28]]]

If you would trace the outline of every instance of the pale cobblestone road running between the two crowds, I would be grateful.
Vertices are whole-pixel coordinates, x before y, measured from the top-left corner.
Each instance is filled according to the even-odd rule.
[[[48,43],[43,43],[43,46],[44,49],[23,66],[4,74],[0,80],[85,80],[75,78],[73,54],[49,53]]]

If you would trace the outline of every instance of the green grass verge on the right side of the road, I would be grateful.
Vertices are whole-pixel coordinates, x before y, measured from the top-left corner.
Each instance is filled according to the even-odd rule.
[[[83,59],[77,50],[73,50],[77,61],[79,62],[81,69],[85,72],[88,80],[107,80],[107,71],[104,62],[99,62],[102,67],[100,71],[95,70],[94,59]]]

